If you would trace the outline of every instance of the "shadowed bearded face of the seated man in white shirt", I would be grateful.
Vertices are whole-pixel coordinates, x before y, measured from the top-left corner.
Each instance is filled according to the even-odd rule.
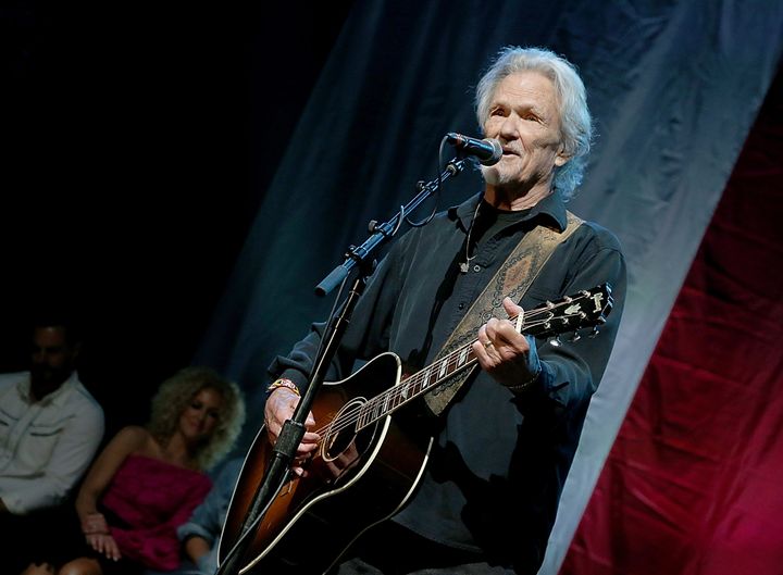
[[[73,372],[76,353],[77,349],[69,343],[63,327],[36,327],[30,354],[34,387],[59,387]]]

